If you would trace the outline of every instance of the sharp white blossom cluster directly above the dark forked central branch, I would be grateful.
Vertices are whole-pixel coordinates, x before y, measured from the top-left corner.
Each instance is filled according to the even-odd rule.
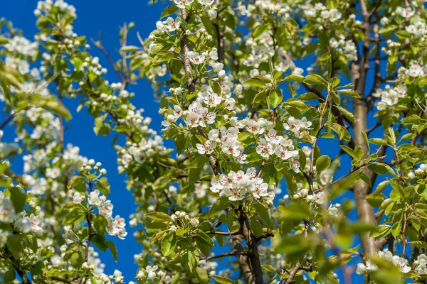
[[[248,168],[246,173],[233,170],[228,175],[221,174],[211,180],[211,191],[226,196],[229,200],[243,200],[246,195],[252,195],[255,199],[266,198],[273,200],[275,193],[268,192],[268,184],[262,178],[257,178],[255,168]]]

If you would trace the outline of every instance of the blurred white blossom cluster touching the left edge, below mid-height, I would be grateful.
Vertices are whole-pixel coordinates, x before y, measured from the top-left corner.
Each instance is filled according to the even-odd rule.
[[[23,233],[33,232],[37,236],[43,234],[43,220],[41,217],[31,213],[27,216],[26,211],[15,212],[14,204],[9,197],[4,197],[4,192],[0,191],[0,222],[11,223]]]

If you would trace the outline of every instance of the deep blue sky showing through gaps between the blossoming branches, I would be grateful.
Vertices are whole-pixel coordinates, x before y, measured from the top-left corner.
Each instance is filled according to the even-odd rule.
[[[6,17],[7,20],[13,21],[16,28],[23,30],[23,35],[25,35],[26,38],[32,39],[33,35],[37,32],[37,28],[35,26],[36,17],[33,16],[33,10],[36,8],[37,1],[0,1],[3,2],[1,3],[0,17]],[[113,2],[115,4],[112,4]],[[88,39],[94,38],[95,40],[98,37],[98,33],[102,33],[102,43],[115,59],[117,59],[115,48],[119,46],[119,26],[122,25],[122,23],[129,23],[133,21],[136,28],[130,31],[129,44],[138,45],[136,32],[139,31],[142,38],[146,38],[147,35],[149,35],[149,33],[155,28],[155,23],[159,20],[159,16],[166,6],[166,4],[162,4],[161,2],[149,5],[146,0],[70,0],[68,3],[73,4],[77,9],[78,18],[75,21],[75,33],[78,33],[78,35],[86,35]],[[106,75],[107,80],[110,82],[119,82],[117,76],[102,53],[95,47],[90,52],[94,56],[98,56],[100,58],[100,63],[103,67],[107,67],[109,69],[109,73]],[[302,62],[302,64],[305,66],[301,67],[308,67],[311,62]],[[370,86],[368,89],[370,89]],[[131,86],[130,91],[137,94],[133,103],[137,108],[142,107],[145,109],[144,116],[151,117],[152,128],[159,131],[162,116],[159,116],[157,113],[158,103],[154,99],[152,88],[147,80],[138,82],[137,86]],[[300,89],[298,94],[302,94],[303,92],[305,92],[305,90]],[[79,146],[81,155],[93,158],[103,164],[103,167],[108,171],[107,178],[111,184],[112,194],[109,199],[112,200],[112,203],[114,204],[113,214],[120,214],[120,216],[128,219],[129,215],[135,211],[135,205],[134,200],[132,199],[132,192],[127,191],[125,188],[125,176],[117,174],[116,153],[110,146],[112,136],[95,136],[95,133],[93,133],[92,116],[88,115],[85,109],[80,111],[78,114],[75,113],[75,109],[78,106],[77,99],[73,101],[65,100],[65,105],[73,112],[73,120],[69,123],[70,128],[65,131],[65,143],[73,143],[73,145]],[[3,117],[4,114],[1,114],[1,121],[3,120]],[[374,121],[369,121],[370,125],[374,123]],[[5,130],[5,138],[8,136],[11,138],[13,133],[8,133],[7,128]],[[11,128],[9,128],[9,132],[10,131]],[[376,137],[379,137],[379,135]],[[330,139],[321,139],[319,144],[322,149],[322,154],[334,157],[339,148],[336,141],[333,143],[331,142],[332,141]],[[172,143],[168,141],[167,146],[172,147]],[[344,165],[345,163],[349,165],[350,160],[348,157],[344,157],[342,159],[342,164]],[[338,175],[341,174],[344,174],[344,172],[339,171]],[[283,192],[283,194],[284,193],[285,192]],[[347,193],[344,195],[344,198],[352,198],[352,194]],[[342,197],[340,197],[337,202],[340,202],[341,200]],[[349,215],[349,219],[356,219],[355,212],[352,212],[352,214]],[[119,259],[117,263],[112,260],[110,253],[102,255],[102,261],[106,265],[106,273],[112,273],[115,268],[117,268],[122,271],[123,275],[125,275],[125,279],[130,281],[134,280],[135,271],[137,271],[137,266],[133,261],[133,255],[135,253],[139,253],[141,246],[136,243],[135,238],[132,236],[134,230],[129,226],[127,229],[129,234],[126,240],[115,241],[117,250],[119,251]],[[359,261],[360,260],[357,259],[357,262]],[[338,273],[340,274],[339,271]],[[360,279],[361,278],[357,278],[357,276],[354,278],[354,280]]]

